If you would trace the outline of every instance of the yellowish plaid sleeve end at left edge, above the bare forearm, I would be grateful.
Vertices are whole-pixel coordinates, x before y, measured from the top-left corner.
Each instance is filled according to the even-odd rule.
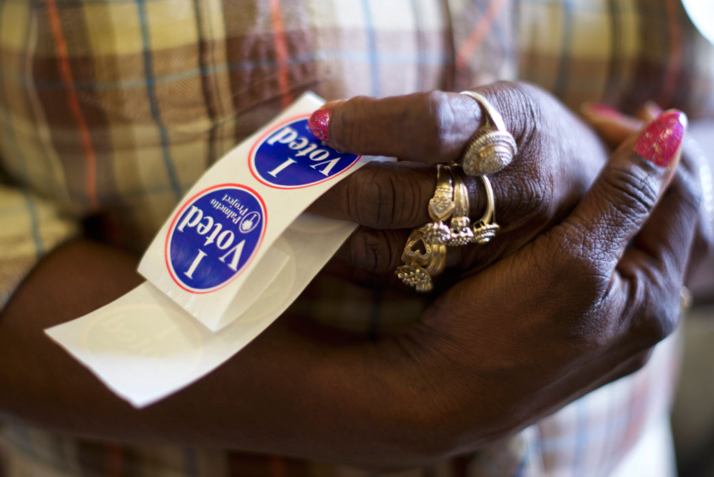
[[[79,230],[51,202],[0,183],[0,311],[39,260]]]

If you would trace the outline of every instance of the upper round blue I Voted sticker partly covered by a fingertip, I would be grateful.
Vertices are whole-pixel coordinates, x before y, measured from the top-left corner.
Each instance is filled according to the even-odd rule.
[[[345,172],[360,156],[323,146],[308,129],[308,115],[288,119],[253,145],[248,165],[257,180],[278,189],[319,184]]]

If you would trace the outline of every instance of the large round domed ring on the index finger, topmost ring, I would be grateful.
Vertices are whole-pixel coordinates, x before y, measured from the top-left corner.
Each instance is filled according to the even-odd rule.
[[[506,129],[501,113],[488,99],[473,91],[462,91],[461,94],[475,99],[486,119],[486,124],[476,130],[461,154],[463,172],[471,176],[498,172],[511,164],[518,152],[516,140]]]

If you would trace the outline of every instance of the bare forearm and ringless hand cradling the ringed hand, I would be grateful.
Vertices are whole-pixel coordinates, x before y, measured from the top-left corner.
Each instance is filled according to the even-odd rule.
[[[286,315],[141,411],[42,333],[138,282],[136,258],[86,243],[56,250],[0,317],[0,415],[371,468],[479,448],[637,369],[675,324],[697,195],[667,187],[678,154],[655,167],[635,141],[562,222],[438,295],[405,333],[358,340]]]

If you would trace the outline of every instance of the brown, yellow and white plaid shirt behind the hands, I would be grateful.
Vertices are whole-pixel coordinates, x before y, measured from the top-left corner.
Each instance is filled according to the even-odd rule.
[[[101,214],[109,242],[144,247],[208,164],[308,89],[336,99],[524,79],[574,108],[714,110],[714,49],[678,0],[0,0],[0,65],[0,306],[83,217]],[[365,333],[406,310],[388,292],[334,290],[310,309]],[[404,475],[657,464],[674,348],[513,438]],[[363,475],[16,425],[0,431],[2,462],[13,477]]]

